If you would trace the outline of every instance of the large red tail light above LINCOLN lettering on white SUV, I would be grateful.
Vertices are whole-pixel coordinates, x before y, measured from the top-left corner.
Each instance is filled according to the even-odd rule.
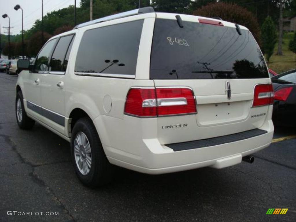
[[[194,95],[188,88],[132,88],[128,91],[124,113],[156,117],[196,113]]]

